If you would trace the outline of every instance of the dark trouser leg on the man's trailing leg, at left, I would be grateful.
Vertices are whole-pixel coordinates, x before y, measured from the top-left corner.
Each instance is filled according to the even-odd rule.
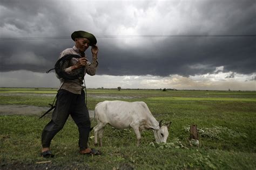
[[[75,94],[60,89],[57,94],[56,108],[52,113],[51,121],[42,132],[42,146],[50,147],[51,140],[64,126],[70,114],[70,106]]]

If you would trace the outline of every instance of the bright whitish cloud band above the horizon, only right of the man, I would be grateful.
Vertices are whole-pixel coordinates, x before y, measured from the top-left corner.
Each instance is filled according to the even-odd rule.
[[[87,87],[90,88],[175,88],[198,90],[256,90],[256,74],[237,74],[234,79],[225,79],[229,73],[195,75],[183,77],[180,75],[161,76],[85,76]],[[129,79],[127,79],[129,77]],[[138,77],[138,78],[137,78]],[[247,81],[246,81],[247,80]]]

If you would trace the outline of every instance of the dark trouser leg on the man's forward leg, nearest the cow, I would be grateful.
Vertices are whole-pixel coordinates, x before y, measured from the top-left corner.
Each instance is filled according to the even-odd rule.
[[[79,147],[80,150],[87,148],[88,138],[90,134],[91,122],[89,117],[89,111],[85,105],[85,95],[82,90],[82,94],[77,96],[76,103],[72,104],[71,117],[78,126],[79,131]]]

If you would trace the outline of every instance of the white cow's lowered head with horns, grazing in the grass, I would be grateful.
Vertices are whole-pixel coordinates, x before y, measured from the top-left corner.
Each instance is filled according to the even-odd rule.
[[[159,122],[160,129],[154,131],[154,138],[156,138],[156,142],[166,143],[166,140],[169,136],[168,129],[172,122],[170,122],[166,126],[164,126],[164,125],[162,125],[162,121],[163,120],[161,120]]]

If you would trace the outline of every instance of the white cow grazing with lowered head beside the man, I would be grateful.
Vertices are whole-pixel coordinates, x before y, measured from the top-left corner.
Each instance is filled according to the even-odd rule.
[[[102,146],[103,131],[107,124],[117,129],[133,128],[137,137],[137,146],[139,146],[141,138],[140,131],[144,129],[152,129],[157,142],[166,143],[169,136],[167,128],[171,122],[167,126],[162,126],[161,121],[157,122],[144,102],[100,102],[95,107],[95,117],[98,122],[93,128],[95,145],[98,144],[97,136],[99,134],[100,146]]]

